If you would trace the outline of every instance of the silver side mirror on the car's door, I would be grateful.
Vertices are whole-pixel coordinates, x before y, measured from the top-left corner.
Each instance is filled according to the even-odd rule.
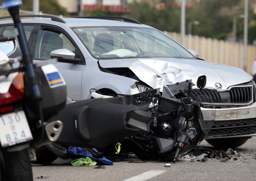
[[[53,50],[51,51],[50,55],[51,55],[51,58],[58,58],[59,62],[74,63],[74,64],[81,62],[81,59],[75,58],[75,53],[73,53],[72,51],[66,48]]]

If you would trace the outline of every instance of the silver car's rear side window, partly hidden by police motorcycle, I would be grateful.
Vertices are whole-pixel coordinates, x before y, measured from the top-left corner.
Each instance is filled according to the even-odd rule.
[[[25,31],[25,36],[26,36],[26,39],[28,41],[29,39],[29,36],[33,30],[33,27],[34,25],[23,25],[23,28],[24,28],[24,31]],[[4,37],[13,37],[15,36],[16,37],[16,40],[17,40],[17,36],[16,36],[16,33],[14,31],[14,27],[13,26],[6,26],[4,28],[4,32],[2,34]],[[16,51],[10,55],[10,57],[18,57],[18,56],[21,56],[21,51],[20,51],[20,45],[19,43],[17,42],[17,49]]]

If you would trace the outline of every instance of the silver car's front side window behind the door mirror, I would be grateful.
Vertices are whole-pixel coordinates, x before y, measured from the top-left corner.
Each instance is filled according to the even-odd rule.
[[[75,53],[76,48],[68,38],[59,31],[50,29],[41,29],[36,40],[35,59],[50,59],[50,53],[53,50],[66,48]]]

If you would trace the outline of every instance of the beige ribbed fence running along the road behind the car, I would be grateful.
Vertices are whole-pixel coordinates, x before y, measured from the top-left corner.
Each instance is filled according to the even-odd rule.
[[[20,11],[20,14],[33,14],[31,11]],[[9,16],[7,10],[0,6],[0,16]],[[180,33],[164,32],[174,40],[180,42]],[[204,38],[194,35],[185,36],[184,47],[196,50],[199,57],[209,61],[234,67],[244,68],[243,44],[229,41]],[[251,74],[252,64],[256,57],[256,46],[247,46],[246,72]]]

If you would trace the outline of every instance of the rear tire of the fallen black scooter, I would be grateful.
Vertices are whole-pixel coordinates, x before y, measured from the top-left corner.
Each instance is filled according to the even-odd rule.
[[[31,163],[49,165],[57,158],[58,158],[58,156],[56,156],[54,153],[52,153],[45,146],[42,146],[42,147],[36,149],[36,161],[31,162]]]

